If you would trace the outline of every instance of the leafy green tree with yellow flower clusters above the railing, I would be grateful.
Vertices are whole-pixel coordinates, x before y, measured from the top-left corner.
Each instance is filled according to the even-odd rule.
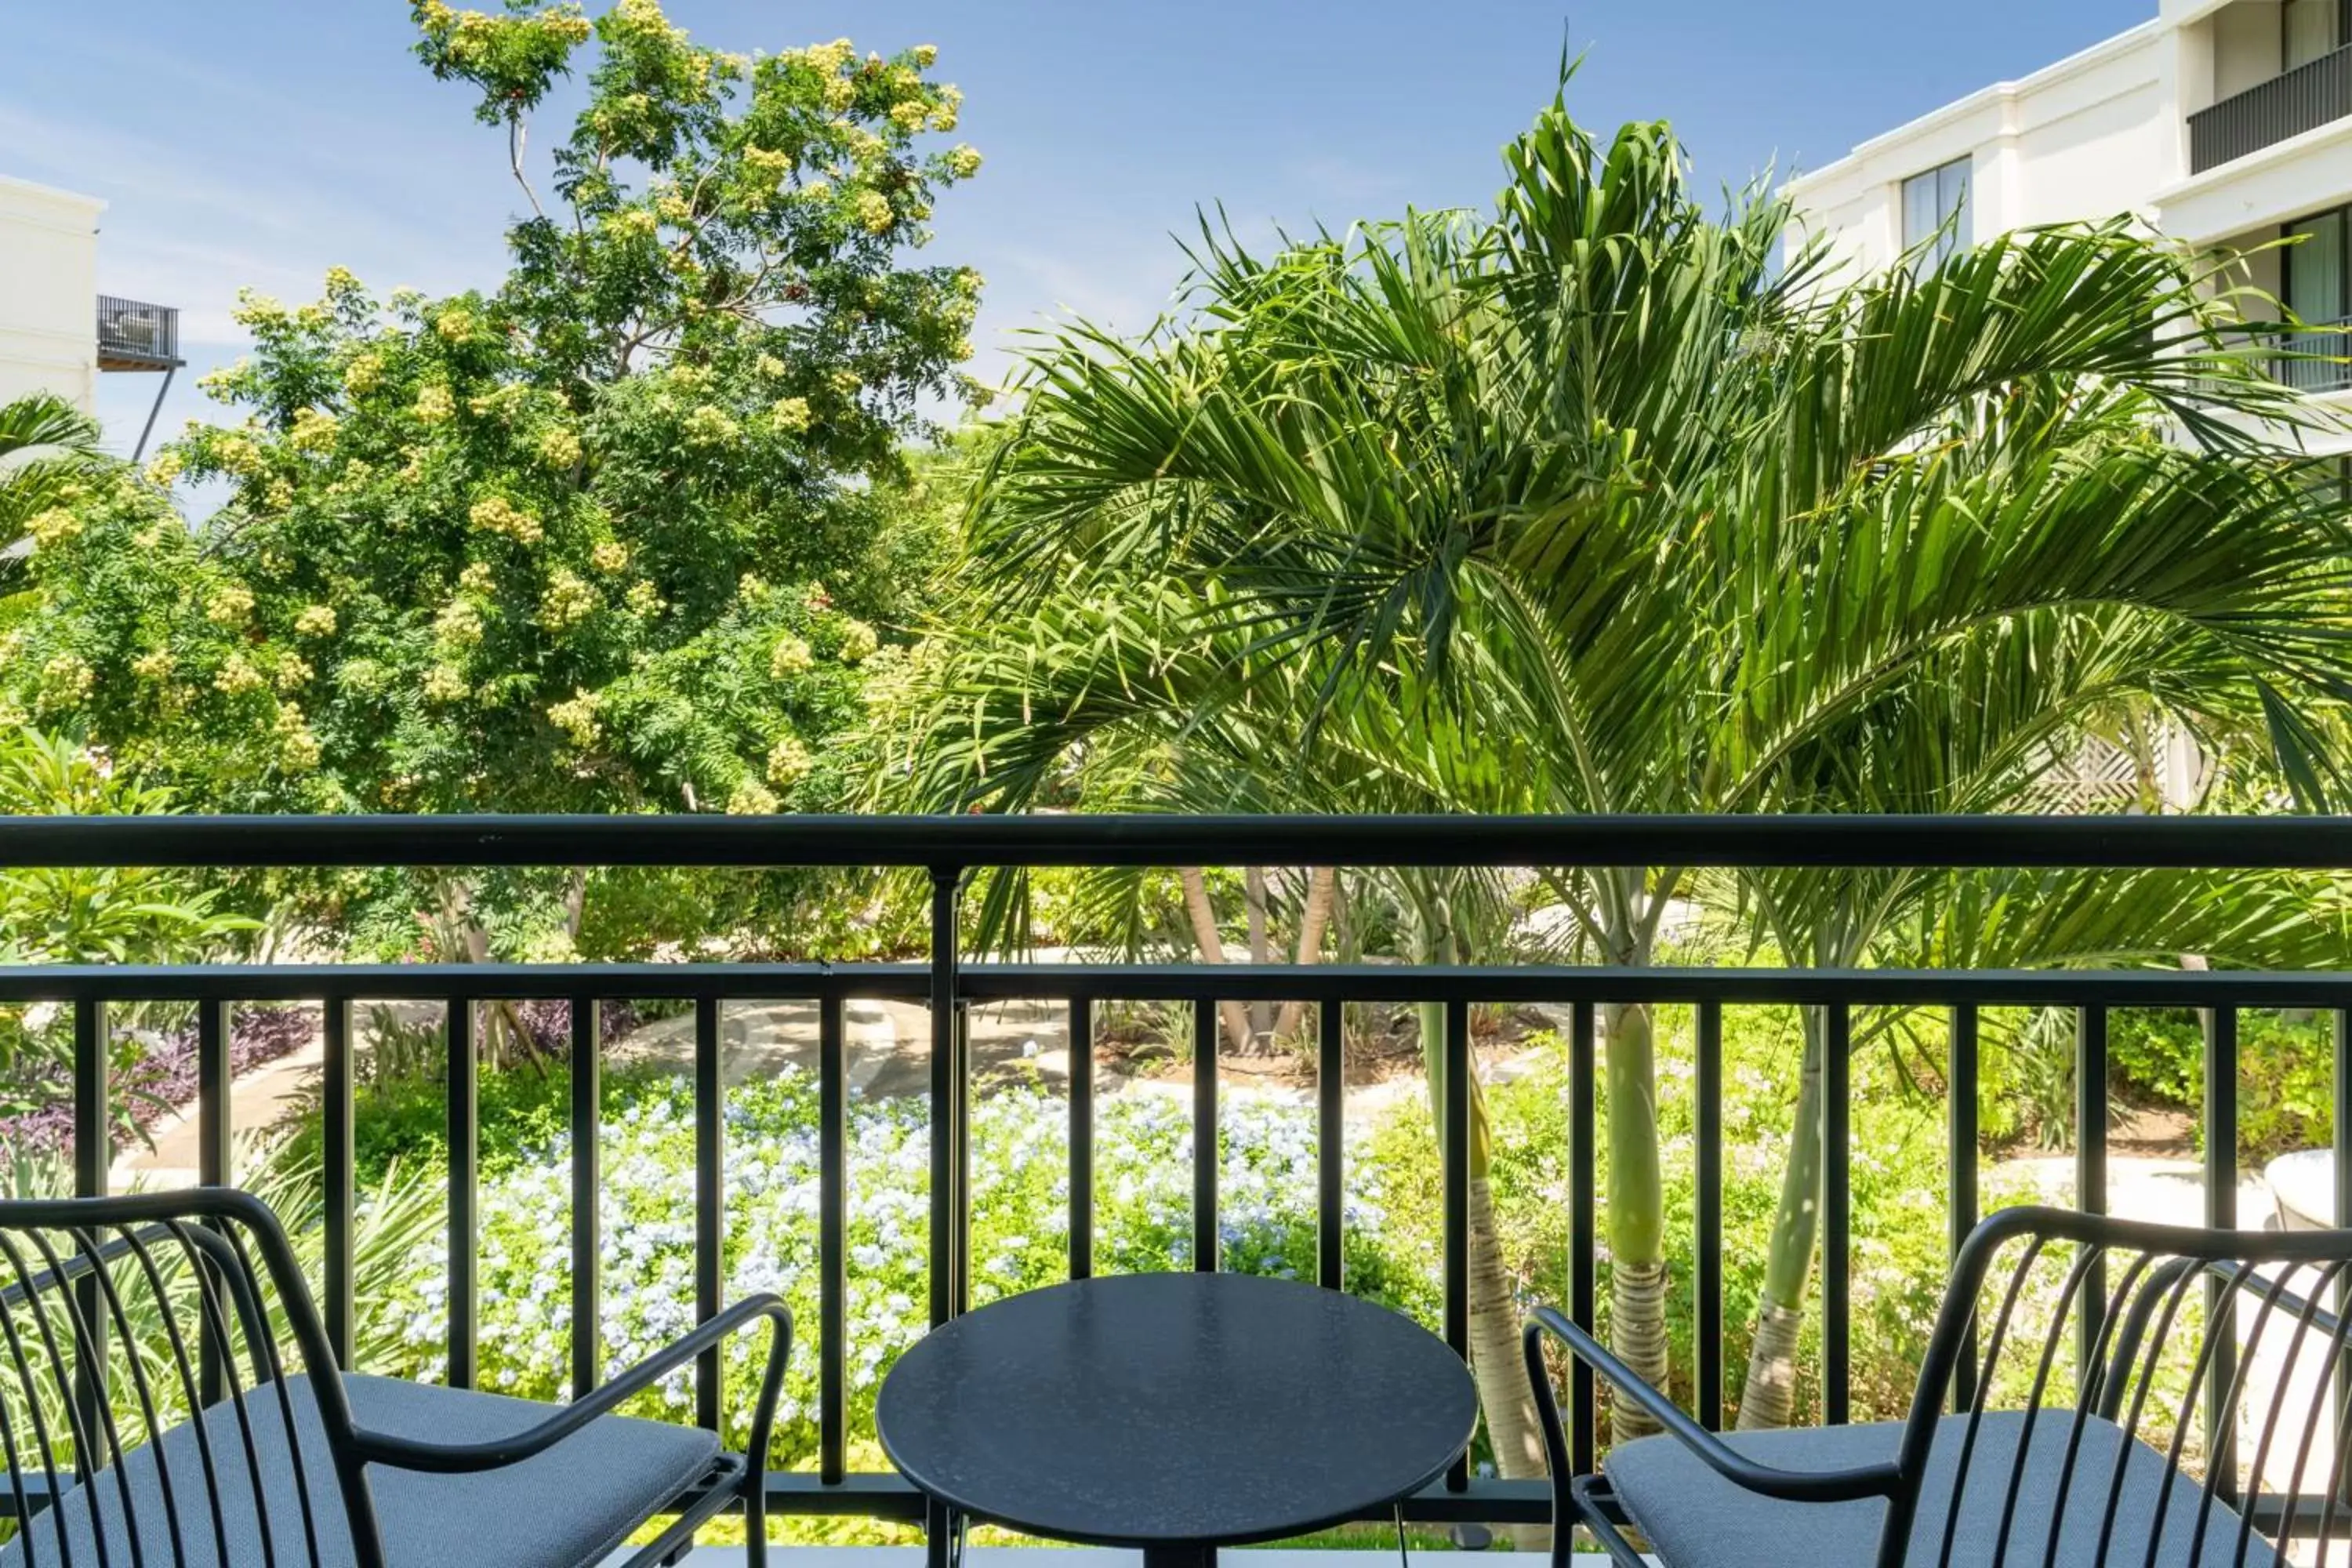
[[[412,9],[508,129],[508,277],[247,296],[254,353],[209,378],[245,421],[33,520],[14,719],[216,809],[811,797],[915,576],[875,482],[974,390],[978,277],[910,263],[978,169],[931,146],[955,89],[929,47],[703,49],[654,0]],[[527,118],[590,38],[543,197]],[[186,527],[181,477],[228,501]]]

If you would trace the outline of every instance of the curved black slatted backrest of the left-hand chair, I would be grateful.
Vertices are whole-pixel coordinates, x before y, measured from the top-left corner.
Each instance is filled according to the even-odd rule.
[[[226,1187],[0,1201],[0,1458],[26,1568],[381,1568],[285,1229]]]

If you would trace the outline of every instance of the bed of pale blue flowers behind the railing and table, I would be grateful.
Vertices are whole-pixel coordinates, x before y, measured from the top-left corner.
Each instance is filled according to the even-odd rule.
[[[560,1088],[560,1074],[550,1081]],[[677,1074],[609,1079],[602,1154],[607,1368],[621,1368],[694,1326],[694,1093]],[[487,1140],[485,1140],[487,1143]],[[1225,1267],[1315,1272],[1315,1112],[1237,1100],[1221,1135]],[[1395,1248],[1392,1192],[1435,1213],[1435,1159],[1374,1138],[1350,1168],[1350,1288],[1437,1321],[1435,1246]],[[501,1150],[480,1199],[480,1387],[560,1399],[572,1345],[572,1147],[550,1133]],[[1192,1128],[1171,1095],[1105,1095],[1096,1110],[1096,1269],[1190,1267]],[[974,1298],[993,1300],[1068,1279],[1068,1100],[1009,1088],[974,1103]],[[922,1338],[927,1316],[931,1140],[927,1103],[849,1105],[849,1432],[870,1436],[882,1373]],[[1425,1190],[1425,1192],[1423,1192]],[[776,1465],[816,1455],[818,1279],[816,1079],[783,1072],[729,1088],[727,1293],[776,1291],[793,1307],[797,1345],[786,1378]],[[447,1333],[447,1255],[419,1251],[402,1295],[409,1361],[440,1378]],[[748,1415],[762,1335],[727,1349],[729,1420]],[[691,1371],[633,1406],[694,1420]],[[741,1441],[741,1429],[731,1441]],[[880,1460],[880,1455],[875,1455]]]

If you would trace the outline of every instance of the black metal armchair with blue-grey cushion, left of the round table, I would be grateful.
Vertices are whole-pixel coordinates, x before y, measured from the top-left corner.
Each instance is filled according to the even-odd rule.
[[[245,1192],[0,1204],[0,1453],[24,1568],[586,1568],[675,1512],[673,1563],[764,1455],[793,1319],[748,1295],[567,1406],[336,1368],[285,1229]],[[275,1307],[275,1312],[273,1312]],[[614,1415],[769,1324],[746,1455]]]

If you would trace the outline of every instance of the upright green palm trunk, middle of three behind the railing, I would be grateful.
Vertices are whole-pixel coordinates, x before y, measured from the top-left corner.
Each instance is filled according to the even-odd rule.
[[[1609,1347],[1651,1387],[1665,1387],[1665,1185],[1658,1171],[1658,1070],[1646,1006],[1602,1009],[1609,1074]],[[1578,1159],[1590,1152],[1578,1150]],[[1658,1429],[1630,1401],[1609,1406],[1616,1441]]]

